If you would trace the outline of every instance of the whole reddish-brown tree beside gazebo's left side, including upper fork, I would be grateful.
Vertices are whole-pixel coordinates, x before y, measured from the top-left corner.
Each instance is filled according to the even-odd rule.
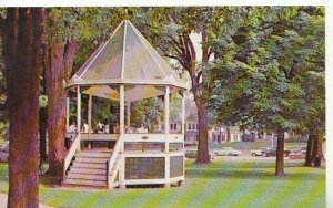
[[[43,63],[48,94],[48,133],[49,133],[49,174],[62,176],[62,159],[64,157],[63,137],[65,133],[65,96],[63,83],[69,80],[73,63],[75,40],[69,37],[63,41],[57,35],[54,24],[64,21],[60,18],[61,10],[47,11],[46,35],[43,48]],[[53,29],[53,30],[52,30]]]

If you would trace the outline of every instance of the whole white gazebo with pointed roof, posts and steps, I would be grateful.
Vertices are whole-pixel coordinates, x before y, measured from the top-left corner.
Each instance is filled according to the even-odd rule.
[[[81,94],[89,95],[88,133],[78,131],[63,162],[63,184],[125,188],[128,185],[181,184],[184,180],[184,84],[138,29],[122,21],[67,84],[77,92],[80,129]],[[170,94],[182,95],[182,131],[170,132]],[[119,101],[119,133],[92,133],[92,97]],[[130,106],[149,97],[164,97],[163,133],[130,133]],[[69,106],[69,98],[68,98]],[[127,118],[125,118],[127,108]],[[68,107],[69,124],[69,107]],[[127,124],[125,124],[127,119]],[[109,149],[93,149],[107,142]],[[87,147],[87,143],[89,147]],[[84,145],[85,144],[85,145]],[[111,145],[110,145],[111,144]]]

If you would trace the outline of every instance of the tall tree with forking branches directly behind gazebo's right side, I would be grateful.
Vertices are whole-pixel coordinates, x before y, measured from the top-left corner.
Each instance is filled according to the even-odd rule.
[[[148,8],[145,13],[135,20],[143,35],[158,48],[161,54],[175,60],[190,76],[191,91],[198,108],[199,146],[195,162],[199,164],[210,163],[208,103],[204,95],[209,60],[213,54],[210,41],[215,35],[213,31],[219,28],[219,18],[223,12],[223,9],[214,10],[205,7]],[[196,62],[198,54],[191,38],[192,33],[201,34],[201,64]]]

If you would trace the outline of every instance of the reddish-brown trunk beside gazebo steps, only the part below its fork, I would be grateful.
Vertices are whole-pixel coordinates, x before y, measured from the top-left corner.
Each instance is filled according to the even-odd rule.
[[[49,174],[62,177],[65,134],[65,91],[62,86],[65,71],[63,65],[63,43],[50,43],[44,52],[48,93]]]

